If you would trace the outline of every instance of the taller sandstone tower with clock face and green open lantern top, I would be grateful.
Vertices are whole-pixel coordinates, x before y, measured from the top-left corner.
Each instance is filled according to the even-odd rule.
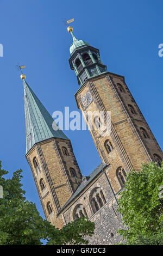
[[[104,163],[110,164],[108,178],[116,193],[121,190],[126,174],[141,163],[161,164],[163,158],[159,144],[131,95],[124,77],[112,74],[102,63],[99,50],[73,34],[70,47],[70,67],[76,73],[79,89],[75,94],[77,106],[82,111],[93,141]],[[91,120],[87,113],[104,113]],[[106,113],[111,113],[111,131],[106,127]]]

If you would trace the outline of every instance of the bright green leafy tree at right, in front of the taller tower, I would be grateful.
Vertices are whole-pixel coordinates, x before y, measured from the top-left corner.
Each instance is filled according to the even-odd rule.
[[[128,229],[118,230],[127,245],[163,245],[163,162],[142,164],[141,172],[134,170],[118,200],[118,211]],[[163,190],[162,190],[163,195]]]

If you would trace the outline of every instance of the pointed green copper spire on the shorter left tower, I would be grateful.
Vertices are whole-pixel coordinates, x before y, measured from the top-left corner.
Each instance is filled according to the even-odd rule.
[[[33,145],[49,138],[68,139],[61,131],[54,131],[52,116],[48,113],[41,101],[34,94],[28,83],[23,79],[24,84],[24,108],[26,119],[26,154]]]

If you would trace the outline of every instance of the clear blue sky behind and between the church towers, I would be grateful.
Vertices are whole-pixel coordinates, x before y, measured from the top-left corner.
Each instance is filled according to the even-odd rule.
[[[126,83],[161,148],[163,57],[162,0],[0,0],[1,132],[0,160],[9,175],[23,169],[26,197],[43,216],[33,176],[25,158],[23,83],[17,62],[27,65],[26,81],[49,113],[65,106],[77,110],[77,78],[68,63],[71,35],[64,18],[74,18],[78,39],[99,48],[108,71],[126,77]],[[66,131],[83,174],[101,162],[89,131]]]

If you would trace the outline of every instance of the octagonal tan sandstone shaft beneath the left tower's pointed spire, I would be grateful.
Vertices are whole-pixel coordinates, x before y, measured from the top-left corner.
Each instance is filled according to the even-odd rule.
[[[63,154],[62,147],[67,149],[68,155]],[[37,159],[39,168],[34,166],[34,157]],[[38,143],[27,154],[27,161],[33,173],[46,219],[55,227],[61,228],[65,224],[64,218],[57,218],[57,214],[78,186],[76,179],[70,173],[70,168],[75,170],[78,182],[82,182],[82,175],[73,154],[71,142],[52,138]],[[43,190],[40,186],[41,179],[46,186]],[[48,202],[53,208],[51,213],[47,209]]]

